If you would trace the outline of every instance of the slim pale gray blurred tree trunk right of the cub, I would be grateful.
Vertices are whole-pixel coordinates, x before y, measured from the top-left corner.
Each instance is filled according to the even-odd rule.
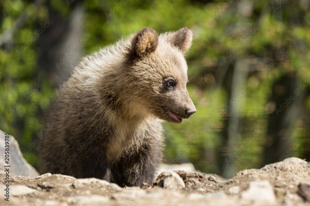
[[[223,130],[219,132],[221,136],[220,149],[220,175],[225,178],[233,177],[237,168],[234,161],[230,160],[230,156],[235,152],[236,145],[241,141],[241,134],[239,131],[240,112],[242,111],[242,100],[246,95],[240,96],[242,91],[246,92],[246,79],[248,75],[249,65],[246,59],[237,59],[233,68],[228,70],[226,74],[226,81],[224,81],[224,88],[229,94],[227,102],[227,116],[224,117]]]

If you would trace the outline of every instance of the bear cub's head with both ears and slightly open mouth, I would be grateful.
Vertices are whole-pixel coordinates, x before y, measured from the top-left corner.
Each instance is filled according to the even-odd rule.
[[[131,36],[126,69],[134,78],[135,104],[140,110],[174,123],[196,112],[186,89],[188,67],[184,58],[192,39],[193,33],[186,27],[159,36],[145,27]]]

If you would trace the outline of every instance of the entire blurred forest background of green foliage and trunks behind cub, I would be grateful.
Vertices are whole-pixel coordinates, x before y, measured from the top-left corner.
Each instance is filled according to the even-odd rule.
[[[37,167],[43,113],[79,59],[143,27],[188,27],[197,113],[164,123],[167,164],[226,178],[310,158],[308,0],[1,0],[0,129]]]

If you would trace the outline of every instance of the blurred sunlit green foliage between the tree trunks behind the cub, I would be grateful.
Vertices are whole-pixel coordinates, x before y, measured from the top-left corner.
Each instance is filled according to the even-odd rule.
[[[24,149],[37,138],[42,111],[55,96],[49,79],[51,74],[37,68],[40,50],[34,32],[38,25],[43,26],[49,19],[49,8],[58,11],[63,19],[69,19],[71,6],[77,2],[68,2],[71,1],[51,0],[37,6],[30,1],[17,1],[16,6],[12,7],[11,1],[4,0],[0,4],[1,11],[12,7],[10,12],[1,14],[1,34],[14,27],[16,19],[23,12],[29,15],[12,39],[2,44],[0,49],[0,128],[19,141],[24,157],[33,166],[37,166],[35,149],[29,152]],[[85,15],[81,24],[84,25],[84,32],[91,35],[84,45],[85,54],[113,44],[117,39],[145,26],[153,27],[158,33],[185,26],[193,30],[193,45],[186,59],[188,76],[192,79],[188,83],[188,92],[197,107],[197,113],[182,124],[165,123],[165,159],[166,163],[193,162],[196,169],[202,172],[218,173],[220,170],[214,160],[221,150],[219,132],[223,128],[223,121],[214,123],[212,120],[217,118],[230,98],[228,91],[215,81],[216,74],[211,71],[217,71],[220,66],[229,67],[238,59],[248,59],[250,62],[262,58],[269,63],[274,53],[279,53],[291,40],[298,42],[281,57],[285,61],[279,61],[270,71],[264,73],[265,64],[257,64],[257,72],[249,73],[244,85],[246,98],[238,102],[242,104],[238,128],[241,136],[238,137],[240,143],[236,148],[244,145],[243,141],[253,135],[255,129],[261,133],[233,161],[238,170],[259,167],[268,126],[266,104],[272,83],[292,71],[296,71],[300,77],[299,84],[310,77],[309,1],[136,0],[119,3],[119,0],[83,2]],[[280,6],[277,7],[277,4]],[[114,9],[117,5],[121,6]],[[107,15],[112,10],[113,15]],[[253,28],[254,32],[251,31]],[[21,50],[33,36],[36,39],[28,44],[24,52],[17,54],[16,50]],[[236,46],[237,49],[234,49]],[[228,53],[231,57],[225,59]],[[38,81],[42,86],[27,95]],[[309,111],[310,98],[306,96],[305,99],[305,107]],[[21,100],[24,103],[20,103]],[[307,143],[303,124],[303,120],[297,118],[292,139]],[[195,143],[193,146],[190,146],[191,141]],[[302,158],[300,149],[292,155]],[[179,159],[175,161],[178,156]]]

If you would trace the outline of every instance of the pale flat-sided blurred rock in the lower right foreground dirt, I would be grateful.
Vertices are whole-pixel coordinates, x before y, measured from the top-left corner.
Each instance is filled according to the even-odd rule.
[[[274,204],[276,197],[271,184],[267,180],[251,182],[247,191],[242,193],[243,199],[263,201],[268,204]]]

